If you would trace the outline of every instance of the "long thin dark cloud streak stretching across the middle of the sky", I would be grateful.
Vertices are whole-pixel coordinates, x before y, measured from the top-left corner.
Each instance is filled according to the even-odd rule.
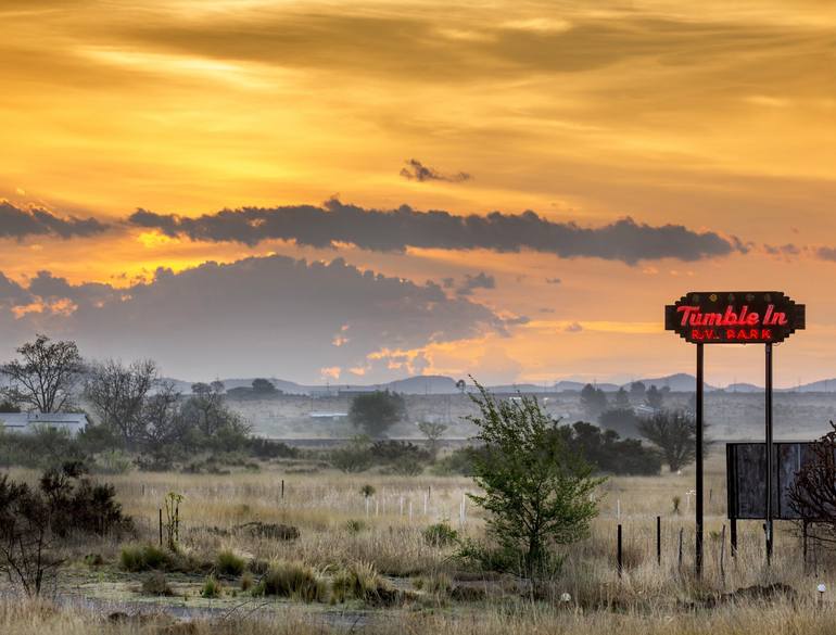
[[[554,223],[534,212],[486,216],[455,216],[449,212],[366,209],[337,200],[321,207],[243,207],[197,218],[134,213],[128,223],[195,241],[233,241],[249,245],[264,240],[293,240],[300,245],[333,247],[347,242],[359,249],[397,251],[407,247],[485,249],[496,252],[533,250],[560,257],[597,257],[635,264],[656,258],[697,261],[746,252],[737,238],[713,231],[693,231],[682,225],[650,226],[622,218],[603,227]]]

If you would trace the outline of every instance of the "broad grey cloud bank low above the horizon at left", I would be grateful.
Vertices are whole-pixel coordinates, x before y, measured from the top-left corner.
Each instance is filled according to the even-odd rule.
[[[90,356],[152,357],[186,378],[224,372],[318,381],[326,371],[362,366],[382,348],[419,350],[509,327],[433,282],[364,271],[341,258],[161,268],[127,288],[74,284],[48,271],[26,283],[0,275],[3,341],[53,333],[76,339]],[[391,371],[375,372],[383,379]]]

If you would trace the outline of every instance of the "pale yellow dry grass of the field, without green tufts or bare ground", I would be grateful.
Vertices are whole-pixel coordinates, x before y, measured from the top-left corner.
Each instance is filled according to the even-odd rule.
[[[35,477],[16,471],[15,477]],[[284,480],[284,497],[281,481]],[[345,475],[333,471],[294,474],[277,467],[261,472],[230,475],[142,473],[109,477],[117,488],[125,510],[135,517],[141,537],[156,539],[157,509],[165,494],[185,496],[180,506],[185,549],[214,559],[221,548],[265,560],[299,561],[319,570],[338,563],[367,562],[393,576],[447,575],[454,580],[457,566],[449,559],[452,548],[429,546],[421,536],[430,523],[447,520],[461,532],[483,533],[481,511],[466,504],[460,519],[463,495],[473,492],[465,478],[398,478],[379,474]],[[376,494],[368,504],[360,494],[365,484]],[[592,535],[565,549],[562,575],[552,587],[550,599],[531,604],[524,588],[503,602],[445,605],[431,615],[411,608],[394,611],[367,630],[373,633],[819,633],[836,618],[827,592],[819,606],[815,585],[836,589],[832,559],[823,549],[811,553],[807,570],[801,561],[800,541],[787,524],[778,523],[773,566],[764,566],[763,533],[759,522],[739,523],[740,550],[736,559],[729,553],[726,533],[721,574],[721,541],[725,518],[725,485],[720,453],[707,461],[706,557],[701,581],[693,576],[694,520],[693,469],[683,474],[664,473],[648,478],[613,478],[603,488],[600,516]],[[708,503],[708,493],[711,500]],[[425,496],[427,512],[425,515]],[[682,499],[681,513],[673,512],[672,498]],[[403,507],[402,501],[403,500]],[[409,503],[413,513],[409,517]],[[402,511],[403,510],[403,511]],[[662,562],[656,561],[656,517],[662,517]],[[297,526],[301,537],[293,542],[220,535],[215,529],[230,530],[250,522],[276,522]],[[349,520],[363,521],[351,531]],[[626,568],[619,577],[616,570],[616,528],[624,532]],[[683,532],[683,566],[679,566],[679,535]],[[727,526],[726,526],[727,532]],[[86,553],[99,550],[115,558],[118,545],[111,541],[87,543]],[[80,553],[79,553],[80,554]],[[695,599],[729,593],[755,584],[782,582],[798,593],[795,604],[776,600],[760,605],[745,601],[717,609],[686,610]],[[571,601],[557,601],[569,593]],[[0,633],[145,632],[134,625],[96,621],[92,615],[50,608],[22,608],[0,600]],[[291,611],[290,619],[273,624],[248,622],[235,628],[246,633],[322,633],[321,623],[312,625],[309,615]],[[142,626],[144,628],[144,626]],[[154,626],[156,628],[156,626]],[[194,632],[223,633],[219,626],[198,624]],[[131,630],[132,628],[132,630]]]

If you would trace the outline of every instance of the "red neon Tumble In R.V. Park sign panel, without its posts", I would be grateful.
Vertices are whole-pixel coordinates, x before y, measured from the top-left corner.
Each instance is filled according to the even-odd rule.
[[[666,330],[695,344],[771,344],[805,325],[805,305],[780,291],[691,292],[664,307]]]

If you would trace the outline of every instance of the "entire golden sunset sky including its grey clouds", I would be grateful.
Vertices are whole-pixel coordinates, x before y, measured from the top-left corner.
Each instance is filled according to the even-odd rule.
[[[763,289],[808,307],[777,383],[836,376],[832,2],[0,0],[0,20],[4,355],[41,330],[194,380],[628,381],[693,372],[666,303]],[[356,212],[337,227],[335,206]],[[402,206],[417,225],[370,212]],[[245,207],[267,212],[241,240],[217,213]],[[451,243],[433,209],[509,225]],[[527,211],[545,225],[518,240]],[[761,364],[714,347],[707,380]]]

